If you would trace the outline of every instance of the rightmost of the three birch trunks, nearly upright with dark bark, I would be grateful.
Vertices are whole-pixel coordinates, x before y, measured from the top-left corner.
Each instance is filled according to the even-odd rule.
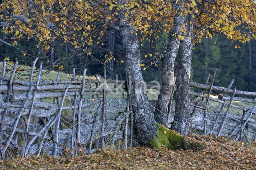
[[[191,14],[188,14],[184,22],[187,32],[182,34],[184,40],[180,42],[181,45],[178,52],[176,65],[176,107],[171,129],[186,136],[190,122],[190,64],[193,47],[194,18],[192,18]]]

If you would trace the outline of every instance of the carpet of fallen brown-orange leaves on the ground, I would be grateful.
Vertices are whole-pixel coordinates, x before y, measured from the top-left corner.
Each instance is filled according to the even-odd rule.
[[[94,154],[52,158],[41,156],[4,160],[0,169],[255,169],[256,148],[244,142],[224,137],[198,137],[190,134],[190,140],[205,144],[196,150],[170,150],[163,152],[138,146],[127,150],[99,150]]]

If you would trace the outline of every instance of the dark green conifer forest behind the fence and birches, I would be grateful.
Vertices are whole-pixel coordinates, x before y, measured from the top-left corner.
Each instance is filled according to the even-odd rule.
[[[94,53],[94,57],[99,61],[106,62],[110,68],[114,71],[110,72],[110,68],[107,68],[107,78],[115,79],[115,75],[118,74],[119,79],[126,79],[124,63],[122,60],[122,39],[118,35],[118,30],[114,32],[114,54],[113,59],[106,62],[106,56],[108,55],[109,42],[108,38],[104,41],[104,46],[98,49]],[[3,32],[0,32],[0,38],[6,42],[12,39],[12,36],[8,36]],[[151,48],[150,44],[147,50],[142,52],[142,66],[150,65],[154,62],[154,57],[150,57],[148,53],[156,53],[163,49],[163,44],[168,42],[168,34],[162,33],[161,38],[157,40],[156,49]],[[16,45],[20,50],[26,51],[27,53],[37,53],[36,40],[30,40],[29,42],[25,39],[21,40]],[[54,59],[62,57],[68,57],[73,55],[74,51],[72,44],[58,44],[58,41],[54,42],[54,46],[58,47],[54,49]],[[144,46],[144,49],[145,49]],[[35,50],[36,49],[36,50]],[[24,53],[14,48],[13,46],[7,45],[6,43],[0,42],[0,61],[8,58],[10,61],[15,61],[18,58],[19,63],[23,65],[31,65],[34,58],[24,56]],[[105,57],[104,57],[105,56]],[[114,60],[115,58],[115,60]],[[251,62],[250,62],[251,59]],[[48,66],[50,60],[50,54],[48,57],[41,58],[44,61],[44,67]],[[155,59],[156,60],[156,59]],[[244,91],[256,91],[256,41],[252,39],[249,43],[240,43],[239,41],[234,42],[228,40],[225,35],[216,35],[213,38],[204,38],[201,43],[194,45],[193,56],[191,63],[191,77],[192,81],[197,83],[204,83],[208,73],[214,73],[217,68],[214,84],[222,87],[227,87],[232,78],[235,78],[234,87]],[[111,63],[113,63],[111,65]],[[144,65],[145,64],[145,65]],[[67,59],[62,62],[63,70],[65,73],[72,73],[72,68],[76,67],[77,74],[82,75],[82,69],[87,68],[87,75],[101,75],[104,65],[86,53],[77,53],[75,57]],[[251,66],[250,66],[251,65]],[[57,71],[59,68],[54,67]],[[156,80],[161,82],[161,60],[148,67],[145,71],[142,71],[145,81]],[[103,75],[102,75],[103,76]],[[211,76],[212,77],[212,76]],[[210,78],[211,79],[211,78]]]

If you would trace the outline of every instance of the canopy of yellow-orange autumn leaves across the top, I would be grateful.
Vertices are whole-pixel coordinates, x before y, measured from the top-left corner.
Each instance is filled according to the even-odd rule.
[[[74,45],[74,49],[81,47],[84,51],[90,51],[89,49],[93,49],[94,45],[104,45],[103,40],[108,37],[110,23],[117,23],[119,12],[124,11],[129,24],[134,26],[134,31],[131,33],[135,36],[141,35],[139,38],[143,47],[145,43],[158,41],[159,34],[170,33],[174,16],[177,13],[176,6],[164,0],[150,0],[148,3],[133,0],[125,4],[119,4],[116,0],[96,0],[93,1],[95,3],[78,0],[74,2],[74,6],[70,6],[72,0],[60,0],[60,3],[54,0],[47,0],[47,2],[48,4],[44,1],[35,1],[36,6],[40,6],[35,9],[35,13],[40,15],[31,13],[34,9],[27,5],[30,3],[28,0],[3,2],[4,5],[0,6],[0,10],[8,11],[8,15],[3,13],[0,19],[10,24],[4,26],[2,30],[15,38],[12,41],[13,45],[17,45],[21,38],[36,37],[39,40],[36,47],[44,53],[48,53],[51,49],[52,39],[70,42]],[[13,4],[18,4],[18,6]],[[22,13],[20,9],[24,12]],[[192,14],[195,18],[195,43],[200,42],[203,37],[212,38],[220,33],[232,40],[248,42],[249,35],[246,31],[252,29],[256,32],[256,18],[252,16],[256,13],[254,1],[215,0],[214,4],[211,4],[202,3],[202,0],[189,0],[182,4],[180,10],[180,15]],[[28,14],[33,15],[33,18]],[[18,19],[13,16],[22,18]],[[98,23],[101,25],[98,26]],[[242,23],[247,24],[248,27],[239,30]],[[193,23],[190,22],[190,24]],[[181,31],[186,31],[184,26]],[[184,36],[177,35],[177,33],[172,36],[176,36],[177,41],[178,39],[184,40]],[[256,37],[255,34],[252,36]],[[152,54],[144,56],[152,57]],[[122,61],[120,62],[123,63]]]

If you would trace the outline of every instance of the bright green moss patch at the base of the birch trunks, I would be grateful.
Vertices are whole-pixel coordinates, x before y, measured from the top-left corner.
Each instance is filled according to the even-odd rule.
[[[157,148],[162,151],[161,146],[176,150],[176,149],[196,149],[204,148],[201,143],[194,142],[194,140],[182,136],[180,133],[170,130],[159,123],[156,124],[158,137],[148,142],[150,148]]]

